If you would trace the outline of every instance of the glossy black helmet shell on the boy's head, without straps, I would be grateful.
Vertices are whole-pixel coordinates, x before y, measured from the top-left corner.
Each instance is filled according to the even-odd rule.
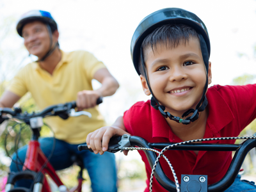
[[[136,28],[131,42],[131,56],[133,65],[140,75],[138,68],[138,62],[140,61],[140,47],[144,38],[152,33],[154,29],[164,24],[186,24],[195,29],[197,33],[204,37],[205,43],[207,45],[208,55],[210,57],[211,45],[209,40],[209,35],[204,22],[197,17],[194,13],[182,10],[180,8],[164,8],[151,13],[143,20]]]

